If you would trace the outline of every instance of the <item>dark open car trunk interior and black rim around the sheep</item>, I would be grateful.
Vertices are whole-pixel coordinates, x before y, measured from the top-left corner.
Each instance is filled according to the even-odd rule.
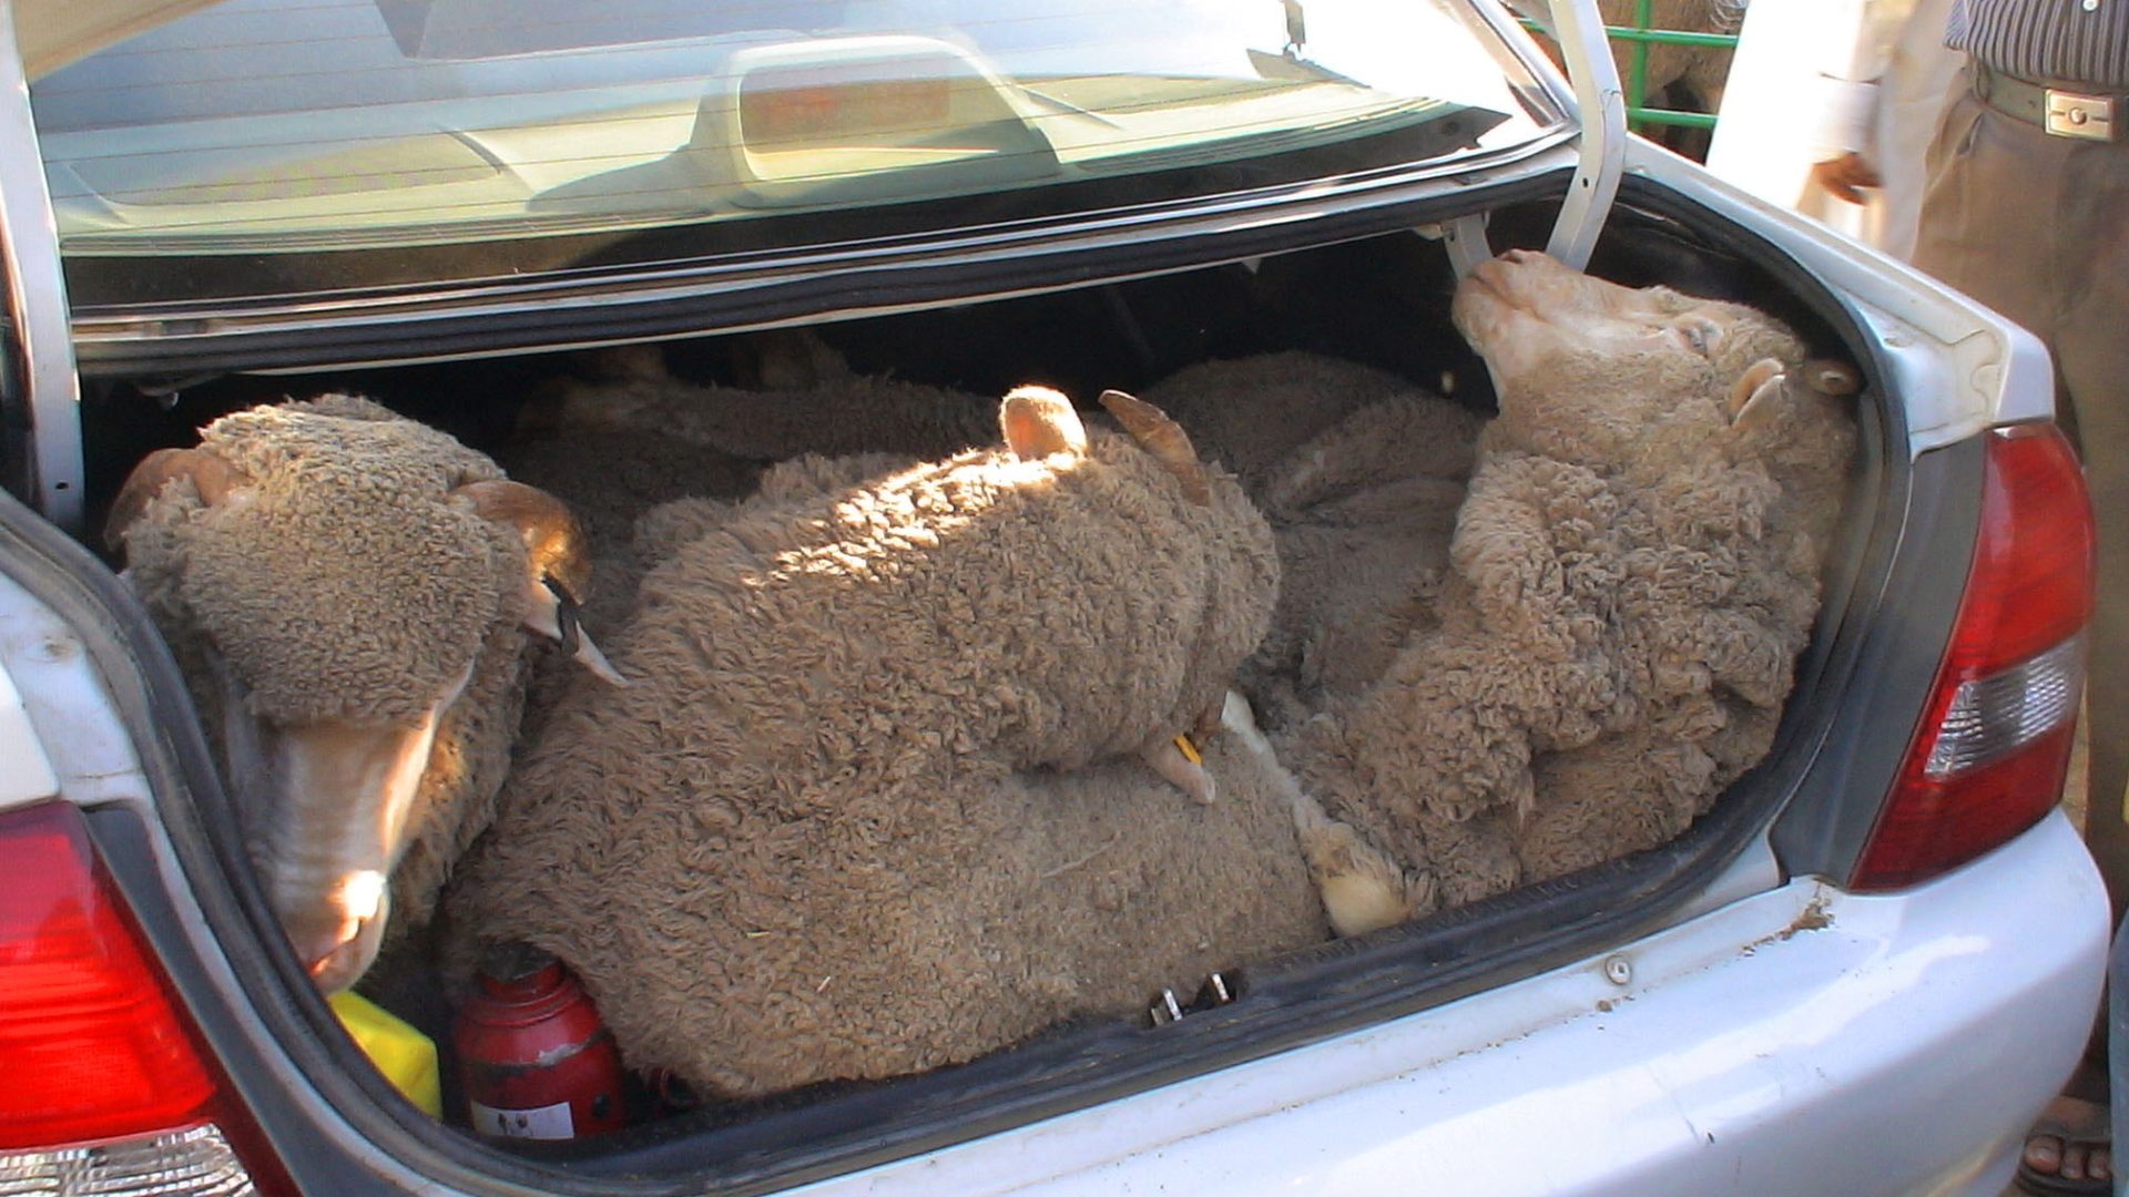
[[[1492,249],[1541,247],[1556,207],[1501,202],[1486,213]],[[1469,228],[1469,226],[1463,226]],[[1884,405],[1878,366],[1844,307],[1795,262],[1678,194],[1629,181],[1590,270],[1629,285],[1669,283],[1703,296],[1748,300],[1790,322],[1814,354],[1856,362],[1859,460],[1850,473],[1850,520],[1827,554],[1822,607],[1810,650],[1767,760],[1678,839],[1595,869],[1446,909],[1358,939],[1326,941],[1280,958],[1235,961],[1222,978],[1233,1001],[1203,1001],[1182,1018],[1094,1020],[1058,1027],[1030,1044],[975,1063],[892,1082],[822,1084],[743,1103],[681,1108],[634,1093],[639,1122],[579,1142],[481,1142],[464,1131],[451,1093],[451,1007],[432,984],[379,995],[445,1048],[447,1122],[426,1122],[398,1103],[356,1048],[336,1037],[324,1007],[292,990],[294,1022],[311,1044],[298,1059],[362,1133],[405,1157],[451,1161],[458,1176],[564,1191],[762,1188],[832,1176],[994,1133],[1090,1103],[1139,1093],[1184,1076],[1260,1059],[1386,1018],[1441,1005],[1567,961],[1601,954],[1712,901],[1773,884],[1782,869],[1769,829],[1793,805],[1814,752],[1827,739],[1825,699],[1856,669],[1861,628],[1852,618],[1859,581],[1891,552],[1876,515],[1905,486],[1903,428]],[[1043,381],[1082,400],[1103,388],[1141,390],[1207,360],[1305,349],[1365,362],[1439,390],[1478,413],[1492,411],[1484,364],[1448,319],[1456,285],[1439,226],[1414,232],[1288,234],[1239,260],[1165,273],[1111,270],[1075,285],[1013,298],[915,307],[896,315],[809,326],[854,371],[950,386],[975,394]],[[666,362],[694,381],[743,383],[747,334],[705,332],[664,343]],[[343,390],[373,396],[432,422],[492,454],[513,477],[571,496],[607,501],[603,520],[688,490],[679,460],[641,477],[585,477],[566,445],[517,432],[526,396],[571,375],[583,358],[522,354],[417,366],[298,375],[230,373],[183,383],[104,377],[85,396],[87,505],[94,515],[141,454],[189,443],[194,428],[224,411],[281,396]],[[575,471],[575,473],[573,473]],[[613,503],[620,494],[620,503]],[[732,496],[732,494],[726,494]],[[620,535],[620,524],[594,535]],[[598,626],[592,626],[598,635]],[[1927,628],[1925,628],[1927,630]],[[1897,722],[1901,716],[1893,711]],[[1854,731],[1854,728],[1852,728]],[[196,786],[211,852],[236,873],[241,920],[224,935],[273,948],[273,918],[241,871],[234,818],[215,786]],[[1852,792],[1852,790],[1850,790]],[[1865,790],[1867,792],[1867,790]],[[1880,790],[1882,792],[1882,790]],[[1820,799],[1825,801],[1825,799]],[[1850,803],[1852,805],[1852,803]],[[1871,811],[1825,816],[1854,824]],[[1846,820],[1846,822],[1844,822]],[[1799,850],[1788,869],[1812,869],[1837,850]],[[1739,880],[1744,878],[1744,880]],[[234,909],[230,914],[234,914]],[[1154,912],[1156,914],[1156,912]],[[249,922],[249,927],[245,924]],[[247,956],[255,956],[255,948]],[[275,965],[281,982],[292,969]],[[1190,1005],[1190,993],[1175,995]],[[1145,995],[1148,1007],[1158,995]],[[1001,1001],[1009,997],[1001,995]]]

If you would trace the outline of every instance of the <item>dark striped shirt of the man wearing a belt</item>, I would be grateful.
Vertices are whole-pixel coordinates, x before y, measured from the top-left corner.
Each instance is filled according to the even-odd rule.
[[[2129,92],[2129,0],[1959,0],[1944,45],[2003,75]]]

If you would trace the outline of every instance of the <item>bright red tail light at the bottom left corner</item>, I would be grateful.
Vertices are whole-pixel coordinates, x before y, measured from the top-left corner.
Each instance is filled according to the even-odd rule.
[[[81,811],[0,811],[0,1182],[245,1191],[234,1112]]]

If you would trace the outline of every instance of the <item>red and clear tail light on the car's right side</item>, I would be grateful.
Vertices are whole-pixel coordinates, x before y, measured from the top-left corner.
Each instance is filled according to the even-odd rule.
[[[1997,428],[1952,643],[1850,888],[1922,882],[2054,807],[2091,616],[2093,511],[2076,454],[2052,424]]]

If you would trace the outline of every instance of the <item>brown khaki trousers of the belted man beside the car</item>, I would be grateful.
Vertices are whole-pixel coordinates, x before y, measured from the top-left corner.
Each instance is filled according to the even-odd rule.
[[[2118,117],[2129,124],[2129,113]],[[1961,96],[1929,149],[1914,264],[2037,334],[2099,518],[2084,839],[2129,905],[2129,132],[2074,141]]]

